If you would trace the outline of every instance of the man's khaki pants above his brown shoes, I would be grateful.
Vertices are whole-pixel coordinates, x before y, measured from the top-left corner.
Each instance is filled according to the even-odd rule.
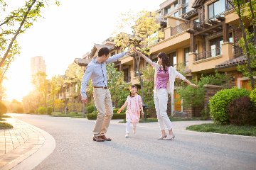
[[[93,135],[95,137],[105,135],[107,128],[110,125],[110,120],[113,116],[112,100],[109,89],[94,88],[93,97],[95,99],[95,105],[97,111],[97,120]]]

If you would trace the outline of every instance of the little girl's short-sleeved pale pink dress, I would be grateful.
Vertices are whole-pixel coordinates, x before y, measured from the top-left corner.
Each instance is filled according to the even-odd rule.
[[[139,123],[140,112],[142,106],[142,98],[139,95],[127,97],[126,119],[130,119],[132,123]]]

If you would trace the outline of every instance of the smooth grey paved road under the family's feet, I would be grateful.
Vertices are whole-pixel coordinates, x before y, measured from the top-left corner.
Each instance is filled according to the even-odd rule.
[[[124,124],[112,120],[112,142],[93,142],[94,121],[14,115],[55,139],[56,147],[35,169],[256,169],[256,137],[184,130],[198,122],[175,122],[174,141],[156,140],[157,123],[140,123],[124,137]]]

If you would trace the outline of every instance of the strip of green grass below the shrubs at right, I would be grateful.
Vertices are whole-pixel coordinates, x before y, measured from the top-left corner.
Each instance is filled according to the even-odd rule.
[[[191,125],[186,130],[198,132],[215,132],[230,135],[256,136],[256,126],[236,126],[236,125],[218,125],[215,123],[206,123],[201,125]]]

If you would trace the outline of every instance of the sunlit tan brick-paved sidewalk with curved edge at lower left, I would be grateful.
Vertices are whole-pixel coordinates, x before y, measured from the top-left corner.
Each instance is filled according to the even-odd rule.
[[[0,130],[0,169],[12,169],[24,159],[38,151],[45,137],[34,126],[16,118],[5,118],[14,126]]]

